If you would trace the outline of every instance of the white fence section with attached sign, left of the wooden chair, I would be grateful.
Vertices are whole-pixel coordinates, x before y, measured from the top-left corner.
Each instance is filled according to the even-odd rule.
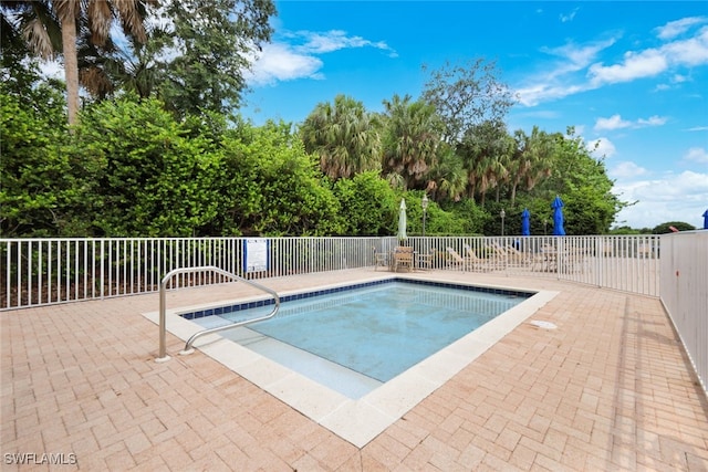
[[[246,238],[1,239],[0,310],[157,292],[175,269],[212,265],[248,279],[361,268],[378,239],[273,238],[266,270],[250,272]],[[185,274],[168,289],[221,283]]]

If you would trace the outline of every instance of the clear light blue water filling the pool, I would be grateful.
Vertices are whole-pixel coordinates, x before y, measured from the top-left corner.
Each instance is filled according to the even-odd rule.
[[[345,395],[355,398],[528,296],[531,294],[398,280],[300,300],[294,297],[281,303],[272,319],[227,331],[222,336],[320,382],[323,382],[320,377],[333,377],[331,370],[341,367],[340,370],[351,375],[334,376],[324,382],[334,384],[329,386],[344,389]],[[211,316],[191,314],[191,317],[205,327],[212,327],[262,316],[272,310],[272,305],[239,308],[246,310],[214,310]],[[323,370],[326,370],[324,375]],[[354,380],[351,380],[352,376]],[[348,381],[361,387],[346,387]]]

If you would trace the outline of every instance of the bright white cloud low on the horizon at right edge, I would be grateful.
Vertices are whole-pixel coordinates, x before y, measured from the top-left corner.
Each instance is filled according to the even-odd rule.
[[[618,213],[615,224],[654,228],[668,221],[684,221],[702,228],[702,213],[708,208],[708,172],[686,170],[635,180],[632,177],[637,176],[622,175],[632,167],[628,162],[626,167],[618,166],[610,171],[610,176],[616,179],[615,195],[622,201],[638,200]]]

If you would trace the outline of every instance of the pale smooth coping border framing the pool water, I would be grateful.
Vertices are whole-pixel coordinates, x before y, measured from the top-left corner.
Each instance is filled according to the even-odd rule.
[[[281,285],[290,289],[279,289],[281,300],[303,297],[304,293],[345,291],[352,283],[322,284],[321,280],[310,282],[299,281],[296,284],[283,280]],[[336,277],[333,277],[336,279]],[[394,276],[384,273],[356,273],[348,279],[357,283],[381,283],[391,279],[420,280],[434,283],[452,283],[471,285],[467,274],[448,274],[446,272],[418,273]],[[479,280],[479,279],[478,279]],[[491,292],[500,290],[497,286],[476,284],[478,289]],[[481,285],[481,286],[480,286]],[[301,287],[299,290],[295,286]],[[306,287],[306,289],[305,289]],[[501,290],[519,290],[517,287],[501,287]],[[202,354],[231,369],[240,377],[280,399],[285,405],[298,410],[320,426],[333,433],[363,448],[377,434],[402,418],[408,410],[446,384],[458,371],[482,355],[508,333],[532,316],[556,295],[556,292],[541,290],[525,298],[496,318],[483,324],[447,347],[438,350],[392,380],[379,385],[358,399],[352,399],[339,391],[324,387],[322,384],[275,363],[268,357],[246,348],[220,335],[205,336],[196,343],[196,348]],[[243,296],[228,302],[230,306],[254,304],[258,297]],[[196,317],[214,315],[216,312],[228,310],[225,302],[212,303],[208,306],[191,306],[169,308],[166,313],[166,326],[169,333],[183,340],[187,340],[195,333],[204,329],[194,319],[180,316],[192,313]],[[156,325],[159,313],[144,313],[144,316]],[[221,333],[223,334],[223,333]]]

